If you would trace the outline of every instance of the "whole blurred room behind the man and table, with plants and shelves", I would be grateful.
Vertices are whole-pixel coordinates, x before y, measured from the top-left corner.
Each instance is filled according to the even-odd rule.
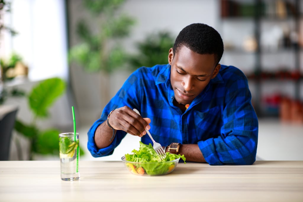
[[[179,31],[214,27],[221,64],[248,78],[259,118],[258,160],[303,160],[303,0],[0,0],[2,160],[58,159],[58,133],[72,132],[82,160],[120,160],[127,135],[94,158],[87,131],[125,79],[166,64]]]

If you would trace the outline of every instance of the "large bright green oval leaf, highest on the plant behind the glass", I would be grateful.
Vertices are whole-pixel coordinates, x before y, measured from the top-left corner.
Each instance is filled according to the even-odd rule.
[[[28,96],[29,106],[37,117],[47,117],[48,108],[65,91],[65,82],[49,78],[35,86]]]

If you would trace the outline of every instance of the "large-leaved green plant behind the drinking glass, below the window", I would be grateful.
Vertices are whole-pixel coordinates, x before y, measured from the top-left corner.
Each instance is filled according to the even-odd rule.
[[[26,96],[34,118],[30,123],[16,120],[15,130],[30,142],[29,160],[33,160],[34,154],[59,155],[58,135],[61,131],[56,128],[41,130],[36,122],[49,117],[49,108],[65,92],[65,86],[61,78],[49,78],[34,86]],[[80,148],[82,154],[84,152]]]

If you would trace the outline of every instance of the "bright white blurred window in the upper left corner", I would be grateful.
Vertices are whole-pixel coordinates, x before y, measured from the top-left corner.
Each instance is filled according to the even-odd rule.
[[[6,0],[11,12],[3,15],[4,25],[18,34],[12,37],[1,33],[1,58],[12,52],[20,55],[28,65],[31,81],[51,77],[68,78],[67,25],[65,1],[62,0]]]

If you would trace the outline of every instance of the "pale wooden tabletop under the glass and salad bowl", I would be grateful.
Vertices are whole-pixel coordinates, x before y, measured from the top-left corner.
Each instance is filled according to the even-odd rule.
[[[62,181],[59,161],[0,161],[0,201],[303,201],[303,161],[245,166],[179,163],[162,176],[130,174],[122,161],[80,161]]]

